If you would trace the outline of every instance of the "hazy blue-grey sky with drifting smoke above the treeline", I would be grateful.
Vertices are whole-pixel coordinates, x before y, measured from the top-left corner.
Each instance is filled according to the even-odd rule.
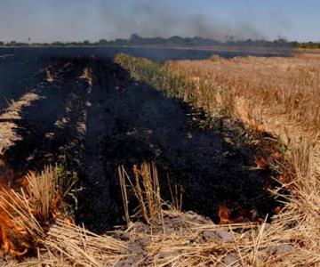
[[[320,41],[319,0],[0,0],[0,41],[140,36]]]

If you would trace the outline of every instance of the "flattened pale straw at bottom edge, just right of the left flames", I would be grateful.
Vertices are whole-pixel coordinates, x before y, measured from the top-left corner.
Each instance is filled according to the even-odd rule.
[[[1,266],[114,266],[127,256],[121,240],[98,236],[68,221],[58,220],[41,239],[36,258],[0,261]]]

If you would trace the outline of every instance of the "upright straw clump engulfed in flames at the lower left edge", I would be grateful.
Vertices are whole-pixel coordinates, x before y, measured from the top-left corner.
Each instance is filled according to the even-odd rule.
[[[45,227],[55,213],[57,191],[52,186],[54,169],[46,168],[41,176],[28,175],[19,191],[1,184],[0,253],[25,255],[44,238]],[[49,198],[50,197],[50,198]]]

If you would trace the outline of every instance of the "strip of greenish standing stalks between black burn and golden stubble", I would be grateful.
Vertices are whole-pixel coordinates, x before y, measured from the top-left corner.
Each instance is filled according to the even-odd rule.
[[[234,97],[224,86],[206,83],[199,85],[197,79],[172,71],[170,63],[135,58],[124,53],[117,54],[115,61],[124,69],[128,69],[132,77],[164,92],[166,96],[186,101],[196,109],[204,109],[207,116],[206,124],[213,123],[212,115],[233,115]],[[221,98],[221,103],[216,101],[217,96]]]

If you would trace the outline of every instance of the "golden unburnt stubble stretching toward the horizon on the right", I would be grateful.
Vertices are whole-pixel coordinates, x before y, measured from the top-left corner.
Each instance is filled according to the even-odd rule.
[[[300,134],[320,132],[320,61],[293,58],[212,57],[208,61],[172,61],[174,73],[196,84],[197,105],[209,113],[227,110],[267,130],[284,127]],[[195,97],[196,96],[196,97]]]

